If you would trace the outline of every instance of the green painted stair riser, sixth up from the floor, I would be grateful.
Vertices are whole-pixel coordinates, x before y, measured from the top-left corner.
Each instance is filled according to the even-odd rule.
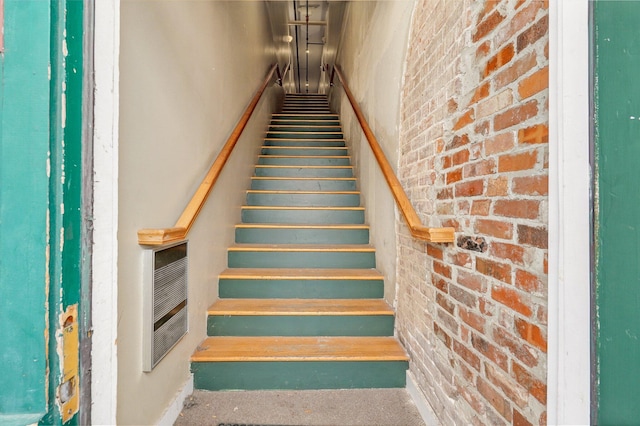
[[[362,224],[364,210],[242,209],[243,223]]]

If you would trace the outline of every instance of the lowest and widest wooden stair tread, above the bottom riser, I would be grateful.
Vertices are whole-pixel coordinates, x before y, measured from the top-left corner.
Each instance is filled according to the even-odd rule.
[[[393,337],[209,337],[191,356],[194,362],[408,360]]]

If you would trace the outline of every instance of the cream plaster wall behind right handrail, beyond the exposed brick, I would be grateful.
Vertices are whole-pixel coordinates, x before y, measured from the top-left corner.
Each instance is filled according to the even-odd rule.
[[[400,94],[413,0],[358,1],[346,8],[337,63],[391,166],[397,169]],[[331,103],[341,112],[358,174],[371,243],[385,275],[385,299],[394,302],[395,223],[399,213],[349,100],[334,78]]]

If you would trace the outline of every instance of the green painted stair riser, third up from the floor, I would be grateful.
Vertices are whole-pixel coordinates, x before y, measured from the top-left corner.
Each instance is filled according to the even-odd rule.
[[[382,280],[232,279],[218,282],[220,298],[375,299],[384,296]]]

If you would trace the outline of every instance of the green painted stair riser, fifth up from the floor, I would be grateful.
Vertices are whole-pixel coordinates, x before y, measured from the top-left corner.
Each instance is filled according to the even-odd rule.
[[[368,229],[236,228],[237,243],[367,244]]]

